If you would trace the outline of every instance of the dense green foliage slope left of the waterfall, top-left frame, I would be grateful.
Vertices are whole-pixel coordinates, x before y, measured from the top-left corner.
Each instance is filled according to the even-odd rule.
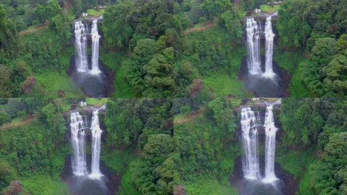
[[[71,37],[71,27],[68,24],[70,20],[67,19],[69,13],[65,12],[55,0],[25,5],[29,6],[24,9],[25,12],[29,8],[34,10],[30,13],[33,26],[19,32],[30,25],[31,21],[23,28],[14,26],[13,20],[20,18],[18,9],[21,5],[12,6],[16,7],[17,12],[11,13],[14,9],[11,5],[6,4],[4,8],[0,5],[0,13],[2,13],[0,69],[6,73],[1,80],[0,95],[11,97],[23,94],[33,96],[47,94],[45,89],[47,86],[44,86],[44,83],[36,77],[39,77],[42,72],[49,71],[65,75],[70,60],[66,62],[63,48],[72,47],[69,43]],[[40,22],[42,22],[41,26],[38,25]],[[35,32],[36,28],[39,29],[37,32]],[[70,58],[71,53],[67,55]],[[57,91],[54,93],[54,96],[57,96]]]

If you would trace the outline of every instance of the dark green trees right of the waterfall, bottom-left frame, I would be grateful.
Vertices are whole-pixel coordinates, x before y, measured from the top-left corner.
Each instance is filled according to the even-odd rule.
[[[106,146],[134,148],[130,167],[139,194],[173,193],[173,127],[170,99],[113,99],[106,105]]]

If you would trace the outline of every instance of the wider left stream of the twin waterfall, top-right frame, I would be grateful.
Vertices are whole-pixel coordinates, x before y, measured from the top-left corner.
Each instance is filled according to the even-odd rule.
[[[247,48],[248,58],[247,66],[250,74],[261,74],[261,60],[260,60],[260,38],[258,23],[254,18],[247,18],[246,22],[247,31]],[[260,27],[261,28],[261,27]]]

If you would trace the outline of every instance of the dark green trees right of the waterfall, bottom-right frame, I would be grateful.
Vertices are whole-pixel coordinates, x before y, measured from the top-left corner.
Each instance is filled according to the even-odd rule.
[[[299,194],[345,194],[347,102],[341,99],[283,99],[282,145],[316,151]],[[322,152],[323,150],[323,152]],[[305,192],[303,192],[305,191]]]

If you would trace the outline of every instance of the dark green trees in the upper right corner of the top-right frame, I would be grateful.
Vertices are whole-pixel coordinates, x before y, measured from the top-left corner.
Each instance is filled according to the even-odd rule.
[[[346,33],[345,1],[291,0],[281,4],[277,29],[283,47],[307,47],[319,38],[337,39]]]

